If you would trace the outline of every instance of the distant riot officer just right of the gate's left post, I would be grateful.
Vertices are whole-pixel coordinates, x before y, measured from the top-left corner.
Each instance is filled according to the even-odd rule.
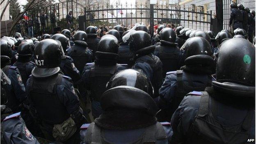
[[[93,60],[95,59],[95,52],[97,51],[98,43],[100,42],[101,38],[97,37],[97,30],[94,26],[89,26],[86,28],[87,33],[87,40],[86,43],[88,48],[92,50],[93,53]]]

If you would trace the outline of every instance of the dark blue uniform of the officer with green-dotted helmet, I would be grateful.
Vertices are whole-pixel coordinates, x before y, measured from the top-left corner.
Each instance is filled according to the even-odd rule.
[[[214,92],[211,94],[206,90],[210,97],[205,97],[206,99],[204,100],[207,100],[204,102],[205,105],[202,105],[202,98],[204,97],[202,92],[193,91],[184,97],[171,118],[171,126],[174,131],[171,144],[208,144],[210,143],[208,141],[211,141],[213,144],[224,142],[227,144],[255,143],[255,141],[247,142],[247,139],[255,139],[254,106],[248,108],[246,106],[248,102],[235,102],[233,96],[229,94],[219,95],[217,91],[212,90],[213,88],[210,89],[210,91]],[[202,111],[203,107],[205,111]],[[199,112],[200,109],[201,112]],[[199,113],[201,115],[199,115]],[[204,118],[206,118],[206,120]],[[207,123],[204,123],[206,121]],[[198,122],[199,126],[196,122]],[[199,127],[199,129],[194,131],[193,128],[197,127]],[[233,128],[233,130],[231,128]],[[240,132],[241,130],[242,132]],[[201,133],[203,135],[199,134],[201,137],[198,137],[195,133]],[[233,135],[234,133],[238,135]],[[239,135],[239,133],[243,133],[242,137],[240,137],[241,135]],[[230,135],[231,137],[228,137]],[[220,141],[216,141],[216,138],[220,139]],[[202,142],[202,140],[204,142]]]

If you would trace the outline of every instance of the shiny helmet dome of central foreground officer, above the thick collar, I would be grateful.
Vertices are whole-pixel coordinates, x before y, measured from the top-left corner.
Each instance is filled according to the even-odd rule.
[[[111,89],[117,86],[130,86],[136,87],[148,93],[150,96],[153,96],[153,87],[150,80],[142,72],[139,72],[134,69],[126,69],[115,73],[110,81],[107,82],[107,89]]]

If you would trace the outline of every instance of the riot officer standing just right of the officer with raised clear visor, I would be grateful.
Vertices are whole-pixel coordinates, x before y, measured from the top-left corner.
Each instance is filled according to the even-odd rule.
[[[154,55],[161,60],[162,78],[168,71],[179,69],[181,61],[181,52],[178,44],[175,43],[176,33],[170,27],[165,27],[161,31],[160,45],[155,47]]]

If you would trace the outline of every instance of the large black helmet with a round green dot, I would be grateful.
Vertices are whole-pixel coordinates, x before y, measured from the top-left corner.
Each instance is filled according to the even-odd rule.
[[[217,55],[216,76],[217,82],[222,84],[214,82],[213,86],[219,86],[220,90],[235,89],[234,95],[255,97],[254,45],[241,38],[224,41]]]

